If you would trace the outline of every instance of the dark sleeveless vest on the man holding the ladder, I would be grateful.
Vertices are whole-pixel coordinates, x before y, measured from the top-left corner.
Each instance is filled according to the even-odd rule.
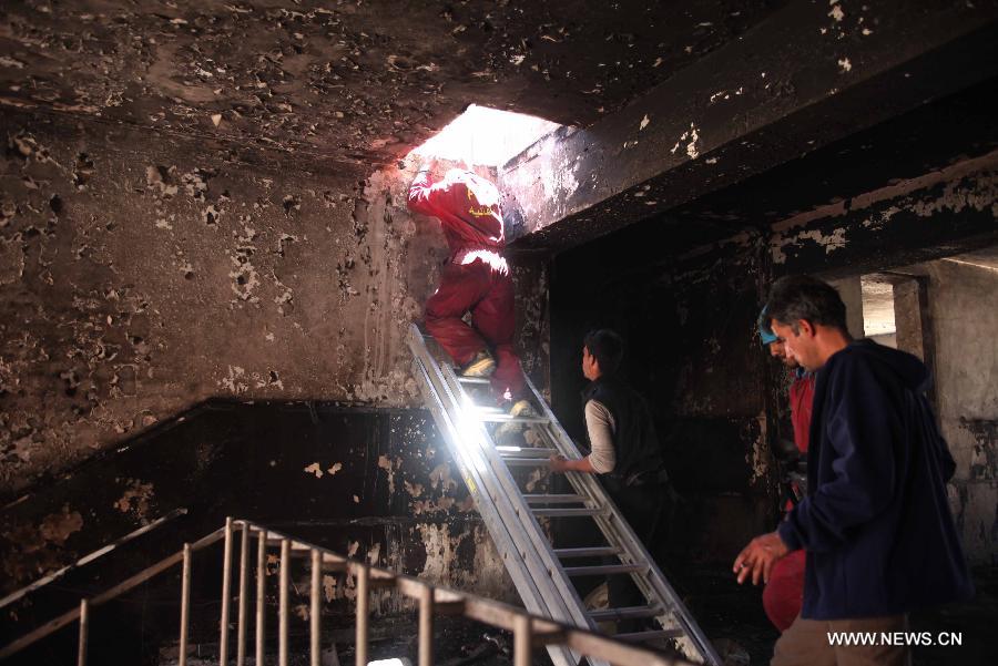
[[[601,474],[604,481],[615,480],[622,485],[664,482],[662,449],[644,398],[619,379],[600,377],[582,392],[583,409],[590,400],[602,403],[615,426],[617,465],[609,474]]]

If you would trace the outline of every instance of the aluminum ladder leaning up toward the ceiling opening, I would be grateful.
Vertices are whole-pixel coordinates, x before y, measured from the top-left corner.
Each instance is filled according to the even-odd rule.
[[[714,647],[592,474],[567,473],[574,491],[571,494],[532,494],[520,488],[522,479],[518,480],[512,470],[543,468],[553,453],[568,459],[581,458],[533,383],[527,380],[538,416],[510,417],[497,407],[476,403],[476,395],[488,393],[488,380],[457,375],[447,355],[415,324],[409,329],[408,344],[413,351],[413,376],[526,608],[590,631],[599,631],[600,622],[655,618],[660,629],[614,637],[649,647],[671,642],[672,647],[692,662],[721,666]],[[497,447],[491,429],[496,423],[510,421],[530,427],[539,440],[537,445]],[[603,544],[552,547],[538,519],[557,518],[592,520]],[[571,565],[573,560],[585,557],[619,562]],[[607,575],[630,575],[646,605],[587,609],[572,578]],[[579,656],[567,648],[549,646],[548,652],[556,666],[579,663]],[[592,659],[589,663],[608,666]]]

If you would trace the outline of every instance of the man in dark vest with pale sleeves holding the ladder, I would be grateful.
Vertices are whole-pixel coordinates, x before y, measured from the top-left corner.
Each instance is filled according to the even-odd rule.
[[[599,474],[610,499],[620,509],[645,547],[669,501],[668,475],[644,399],[620,377],[624,345],[612,330],[594,330],[582,347],[582,375],[590,381],[582,393],[590,453],[580,460],[553,455],[553,472]],[[644,605],[628,575],[607,582],[611,608]],[[633,621],[618,625],[619,633],[640,628]]]

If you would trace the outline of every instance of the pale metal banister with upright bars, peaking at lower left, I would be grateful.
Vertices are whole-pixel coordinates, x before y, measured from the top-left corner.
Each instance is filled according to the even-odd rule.
[[[34,631],[0,647],[0,660],[7,660],[24,648],[75,624],[78,633],[77,665],[86,666],[90,647],[90,619],[101,605],[130,590],[166,574],[181,566],[179,624],[179,650],[176,664],[187,666],[191,659],[189,645],[191,618],[191,582],[194,571],[193,555],[206,549],[217,549],[222,542],[221,617],[218,621],[218,655],[213,664],[237,666],[273,663],[264,652],[268,635],[276,633],[278,666],[304,663],[322,666],[323,642],[330,638],[323,627],[324,575],[349,576],[356,591],[355,664],[369,664],[371,634],[370,596],[375,590],[393,590],[413,601],[418,612],[418,664],[435,664],[435,618],[438,615],[461,615],[513,635],[513,666],[529,666],[533,649],[549,646],[558,654],[585,656],[591,664],[618,664],[620,666],[689,666],[689,662],[675,660],[646,649],[620,643],[587,629],[553,622],[523,612],[520,608],[437,587],[426,581],[395,574],[370,566],[366,562],[348,560],[326,549],[275,532],[251,521],[227,519],[225,525],[202,539],[183,544],[183,549],[152,566],[109,587],[102,593],[80,600],[79,606],[39,626]],[[275,557],[276,556],[276,557]],[[267,566],[276,564],[277,613],[268,613],[266,604]],[[292,655],[289,624],[293,615],[292,573],[295,581],[302,574],[308,576],[308,649],[307,657]],[[215,570],[217,571],[217,570]],[[255,581],[255,584],[253,583]],[[273,592],[273,591],[271,591]],[[30,591],[29,591],[30,593]],[[276,619],[276,622],[275,622]],[[252,629],[252,633],[251,633]],[[252,642],[252,643],[251,643]],[[200,663],[203,660],[198,659]],[[194,666],[192,664],[192,666]]]

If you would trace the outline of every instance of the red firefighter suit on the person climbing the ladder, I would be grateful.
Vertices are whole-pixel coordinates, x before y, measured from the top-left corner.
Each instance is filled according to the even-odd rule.
[[[452,168],[434,182],[428,171],[409,187],[409,208],[440,221],[450,259],[440,286],[426,301],[426,329],[456,363],[467,365],[477,352],[496,357],[491,378],[497,396],[516,400],[523,393],[523,371],[512,348],[516,314],[499,191],[468,171]],[[471,312],[471,325],[461,317]]]

